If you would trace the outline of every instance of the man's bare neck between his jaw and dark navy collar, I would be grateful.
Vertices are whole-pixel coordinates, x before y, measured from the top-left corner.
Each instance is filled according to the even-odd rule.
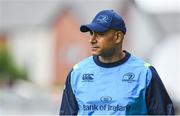
[[[122,60],[125,57],[125,53],[123,51],[121,51],[119,54],[117,55],[113,55],[111,57],[103,57],[103,56],[98,56],[99,60],[102,63],[113,63],[113,62],[117,62]]]

